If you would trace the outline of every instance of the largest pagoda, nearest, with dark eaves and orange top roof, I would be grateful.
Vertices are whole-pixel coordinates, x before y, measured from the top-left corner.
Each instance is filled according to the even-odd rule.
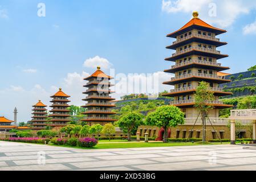
[[[180,107],[186,118],[196,118],[198,116],[198,111],[194,107],[194,93],[201,81],[208,82],[209,90],[214,92],[214,101],[208,101],[209,105],[214,106],[214,109],[209,112],[209,117],[218,118],[219,109],[232,107],[219,101],[220,96],[232,94],[224,92],[218,86],[230,82],[224,76],[218,75],[218,72],[229,69],[229,67],[223,67],[220,63],[217,63],[217,60],[228,57],[228,55],[224,55],[216,49],[227,44],[216,38],[217,35],[225,32],[226,30],[210,26],[199,19],[198,13],[195,11],[192,20],[180,30],[167,35],[169,38],[175,38],[176,41],[166,48],[173,49],[176,53],[165,59],[175,63],[170,69],[164,71],[175,74],[171,80],[163,83],[174,85],[174,89],[170,90],[170,93],[165,94],[165,96],[174,97],[174,101],[170,104]]]

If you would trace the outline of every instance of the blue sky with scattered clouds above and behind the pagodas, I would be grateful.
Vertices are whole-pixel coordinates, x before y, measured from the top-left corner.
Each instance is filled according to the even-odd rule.
[[[46,17],[37,15],[40,2]],[[217,7],[214,17],[208,15],[210,3]],[[173,53],[165,46],[174,41],[165,35],[187,23],[193,10],[228,31],[219,36],[229,43],[220,48],[230,55],[220,61],[231,68],[227,72],[255,65],[253,0],[1,0],[0,115],[13,119],[17,106],[19,121],[28,121],[31,106],[39,99],[50,105],[59,87],[72,96],[71,104],[82,105],[82,78],[98,64],[107,73],[156,73],[159,90],[170,89],[161,85],[172,76],[162,71],[173,64],[164,61]]]

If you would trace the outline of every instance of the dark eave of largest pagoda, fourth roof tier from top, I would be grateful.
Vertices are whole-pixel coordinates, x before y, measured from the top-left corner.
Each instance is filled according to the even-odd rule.
[[[212,69],[212,70],[215,70],[215,71],[218,71],[218,72],[230,69],[229,67],[221,67],[221,66],[217,66],[217,65],[191,63],[191,64],[184,65],[182,67],[177,67],[177,68],[172,68],[172,69],[165,69],[164,72],[166,72],[166,73],[175,73],[177,71],[182,71],[184,69],[189,69],[189,68]]]

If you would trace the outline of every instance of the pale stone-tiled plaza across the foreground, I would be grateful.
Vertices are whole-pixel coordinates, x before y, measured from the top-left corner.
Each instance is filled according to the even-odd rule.
[[[0,142],[3,170],[256,170],[256,150],[228,144],[82,150]]]

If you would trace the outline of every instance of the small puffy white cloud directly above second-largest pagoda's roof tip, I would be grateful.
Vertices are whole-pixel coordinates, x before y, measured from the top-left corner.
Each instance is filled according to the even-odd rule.
[[[84,67],[96,69],[98,66],[103,69],[111,68],[112,64],[105,58],[95,56],[84,61]]]

